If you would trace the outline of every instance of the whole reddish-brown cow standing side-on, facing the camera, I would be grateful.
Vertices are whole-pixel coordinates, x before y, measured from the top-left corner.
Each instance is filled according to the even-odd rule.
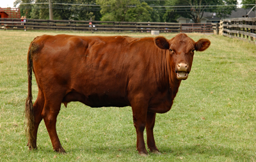
[[[137,150],[147,156],[147,145],[158,151],[153,128],[156,113],[168,112],[181,80],[191,70],[194,51],[211,42],[193,41],[186,34],[171,40],[128,36],[43,35],[28,51],[28,98],[26,128],[28,146],[36,148],[38,126],[44,119],[54,151],[65,152],[56,132],[61,103],[80,101],[90,107],[132,107],[137,133]],[[32,104],[32,70],[38,96]]]

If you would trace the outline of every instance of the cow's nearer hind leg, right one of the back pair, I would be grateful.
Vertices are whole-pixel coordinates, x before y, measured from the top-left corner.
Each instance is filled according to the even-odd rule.
[[[56,121],[60,112],[61,101],[62,98],[58,97],[58,95],[52,95],[49,99],[45,98],[44,110],[42,112],[45,126],[51,138],[52,147],[56,152],[65,152],[56,131]]]

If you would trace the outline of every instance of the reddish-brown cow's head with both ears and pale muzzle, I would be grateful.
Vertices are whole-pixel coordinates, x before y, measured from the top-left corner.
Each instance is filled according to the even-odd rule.
[[[172,73],[175,73],[179,80],[188,78],[195,50],[204,51],[211,44],[211,41],[207,39],[200,39],[195,42],[184,33],[177,34],[171,40],[157,36],[154,41],[157,47],[169,50]]]

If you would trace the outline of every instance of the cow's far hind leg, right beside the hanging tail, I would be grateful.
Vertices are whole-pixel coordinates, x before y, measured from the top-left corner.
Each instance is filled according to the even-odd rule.
[[[35,123],[34,123],[34,140],[33,140],[33,147],[36,148],[36,138],[37,138],[37,131],[38,131],[38,126],[40,122],[42,121],[42,110],[44,108],[44,94],[41,91],[41,89],[38,88],[38,96],[36,98],[35,103],[33,104],[33,110],[34,110],[34,118],[35,118]],[[29,145],[29,144],[28,144]],[[29,148],[31,149],[31,148]]]

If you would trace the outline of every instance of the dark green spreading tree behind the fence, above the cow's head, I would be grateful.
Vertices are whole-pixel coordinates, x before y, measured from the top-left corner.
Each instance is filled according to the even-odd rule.
[[[225,18],[227,15],[231,14],[232,10],[236,10],[236,4],[236,0],[169,0],[166,1],[166,6],[179,6],[179,8],[167,7],[165,18],[172,20],[170,16],[174,15],[177,17],[177,15],[179,15],[191,18],[195,23],[199,23],[201,22],[201,18],[204,16],[205,11],[214,11],[218,17]]]

